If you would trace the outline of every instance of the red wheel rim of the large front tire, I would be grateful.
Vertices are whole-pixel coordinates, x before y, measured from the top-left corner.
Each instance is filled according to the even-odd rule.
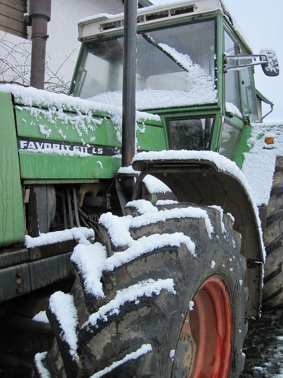
[[[175,352],[175,378],[227,378],[232,350],[232,306],[228,287],[212,276],[199,288]]]

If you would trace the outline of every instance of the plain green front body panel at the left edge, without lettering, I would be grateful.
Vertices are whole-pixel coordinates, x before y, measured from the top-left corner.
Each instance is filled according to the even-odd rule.
[[[0,246],[24,239],[23,199],[20,182],[14,112],[10,93],[0,93],[1,206]]]

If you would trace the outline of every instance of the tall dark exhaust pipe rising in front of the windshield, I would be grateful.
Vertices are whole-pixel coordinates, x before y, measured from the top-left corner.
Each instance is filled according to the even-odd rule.
[[[137,49],[138,0],[125,0],[123,102],[122,102],[122,167],[132,163],[135,154],[135,70]]]

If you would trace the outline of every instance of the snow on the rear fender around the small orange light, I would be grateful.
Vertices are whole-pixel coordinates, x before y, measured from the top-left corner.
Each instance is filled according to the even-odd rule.
[[[277,156],[283,156],[283,123],[263,122],[252,124],[248,139],[249,152],[244,153],[242,166],[252,188],[257,206],[267,205]],[[265,143],[265,137],[274,137],[274,144]]]

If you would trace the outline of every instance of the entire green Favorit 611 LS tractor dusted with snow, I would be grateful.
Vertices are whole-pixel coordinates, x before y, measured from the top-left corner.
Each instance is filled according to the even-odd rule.
[[[238,377],[245,317],[283,303],[282,126],[254,85],[275,54],[218,0],[132,3],[78,24],[70,96],[0,87],[10,376],[36,353],[41,378]]]

